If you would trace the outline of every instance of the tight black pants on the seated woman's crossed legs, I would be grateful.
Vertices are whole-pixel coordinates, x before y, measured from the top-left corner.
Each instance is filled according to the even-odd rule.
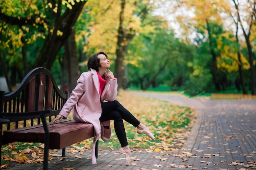
[[[113,102],[101,102],[101,117],[100,122],[106,120],[114,120],[115,132],[117,138],[122,147],[127,146],[128,142],[126,139],[126,132],[124,129],[123,119],[132,124],[134,127],[139,125],[139,120],[137,120],[126,108],[124,108],[117,100]]]

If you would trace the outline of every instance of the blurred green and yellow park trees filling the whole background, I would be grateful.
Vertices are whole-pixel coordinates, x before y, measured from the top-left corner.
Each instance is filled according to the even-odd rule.
[[[255,95],[253,0],[0,0],[0,76],[35,67],[71,92],[105,51],[119,88]],[[64,88],[65,87],[65,88]]]

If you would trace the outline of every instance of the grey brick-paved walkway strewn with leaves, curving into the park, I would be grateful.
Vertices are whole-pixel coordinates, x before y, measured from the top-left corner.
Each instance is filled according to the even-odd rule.
[[[54,157],[49,170],[245,170],[256,168],[256,100],[209,100],[184,98],[153,93],[132,92],[138,95],[167,100],[175,105],[195,109],[197,120],[182,150],[159,153],[134,151],[135,163],[125,166],[118,150],[99,150],[97,164],[92,164],[91,150],[67,153],[64,160]],[[68,149],[67,149],[68,150]],[[61,150],[56,152],[61,155]],[[81,157],[81,159],[80,159]],[[12,170],[38,170],[43,164],[20,164]],[[68,169],[67,169],[68,170]]]

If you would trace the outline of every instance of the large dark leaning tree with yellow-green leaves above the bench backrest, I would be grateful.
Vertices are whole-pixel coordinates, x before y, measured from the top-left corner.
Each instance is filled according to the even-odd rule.
[[[0,20],[2,21],[2,27],[10,28],[2,30],[1,32],[5,37],[10,37],[9,41],[1,42],[2,46],[4,46],[4,48],[9,48],[13,45],[17,46],[17,48],[22,46],[24,39],[22,40],[22,38],[17,36],[10,36],[15,35],[15,32],[17,32],[16,28],[11,26],[22,28],[18,29],[19,32],[22,32],[19,35],[22,35],[26,31],[28,34],[29,30],[34,30],[34,33],[31,33],[32,38],[27,41],[35,41],[38,37],[46,38],[43,41],[43,46],[40,47],[40,54],[30,67],[45,67],[50,70],[59,50],[71,35],[72,27],[79,17],[86,1],[31,0],[24,2],[22,0],[4,0],[0,3]],[[27,44],[29,43],[31,42],[27,42]],[[23,41],[23,44],[25,45],[25,41]],[[23,55],[23,57],[25,57],[25,55]]]

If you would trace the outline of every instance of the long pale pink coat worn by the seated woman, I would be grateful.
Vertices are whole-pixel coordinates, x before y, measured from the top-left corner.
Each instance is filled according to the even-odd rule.
[[[99,77],[96,70],[83,72],[77,80],[77,85],[70,94],[70,98],[63,106],[60,115],[67,118],[71,109],[73,109],[73,119],[76,122],[91,123],[94,127],[94,139],[92,147],[92,163],[96,162],[95,143],[101,134],[101,125],[99,118],[101,117],[101,102],[114,101],[117,98],[117,79],[110,79],[104,74],[106,85],[99,96]],[[103,122],[104,126],[110,126],[110,121]],[[101,137],[104,142],[110,139],[111,128],[104,129],[104,136]]]

